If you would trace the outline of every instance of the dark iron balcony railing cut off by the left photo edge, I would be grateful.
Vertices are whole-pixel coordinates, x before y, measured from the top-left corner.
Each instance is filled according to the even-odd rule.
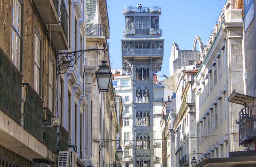
[[[22,74],[0,48],[0,110],[20,124]]]

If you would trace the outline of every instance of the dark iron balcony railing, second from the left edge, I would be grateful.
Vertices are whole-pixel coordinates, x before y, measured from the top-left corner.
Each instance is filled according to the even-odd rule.
[[[24,107],[24,129],[43,141],[43,99],[28,84],[22,84],[26,88],[26,101]]]

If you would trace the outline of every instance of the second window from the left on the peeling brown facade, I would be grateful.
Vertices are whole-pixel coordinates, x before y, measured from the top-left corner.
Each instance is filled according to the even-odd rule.
[[[37,29],[35,29],[35,41],[34,41],[34,89],[37,93],[40,93],[40,40],[41,37],[39,36]]]

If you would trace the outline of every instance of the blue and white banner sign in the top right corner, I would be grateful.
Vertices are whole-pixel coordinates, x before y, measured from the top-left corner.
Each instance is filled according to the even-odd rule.
[[[254,19],[254,0],[244,0],[244,25],[245,31]]]

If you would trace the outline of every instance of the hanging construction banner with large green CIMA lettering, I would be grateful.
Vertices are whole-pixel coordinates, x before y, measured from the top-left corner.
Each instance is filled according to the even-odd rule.
[[[98,0],[86,0],[86,29],[98,24]]]

